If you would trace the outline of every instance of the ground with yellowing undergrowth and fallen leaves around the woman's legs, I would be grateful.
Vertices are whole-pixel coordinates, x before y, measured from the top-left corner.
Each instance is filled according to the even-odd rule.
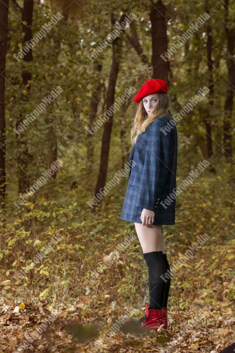
[[[0,352],[219,353],[234,343],[234,175],[226,168],[198,177],[177,199],[176,224],[164,226],[174,271],[169,327],[159,332],[136,325],[148,303],[147,266],[138,239],[118,248],[136,234],[119,220],[124,185],[98,212],[45,200],[2,218]],[[36,261],[56,233],[61,240]],[[181,261],[204,233],[210,238]]]

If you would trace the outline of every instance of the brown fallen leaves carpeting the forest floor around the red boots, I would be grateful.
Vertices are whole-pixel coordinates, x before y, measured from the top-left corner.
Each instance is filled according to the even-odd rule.
[[[73,305],[57,311],[46,300],[34,298],[33,291],[27,291],[28,299],[18,303],[3,300],[0,352],[220,352],[235,342],[235,277],[230,276],[234,254],[235,239],[224,246],[210,246],[210,253],[205,246],[178,269],[172,276],[169,326],[160,332],[138,332],[135,323],[144,315],[140,296],[135,297],[132,306],[120,306],[114,296],[111,300],[109,294],[104,295],[105,289],[96,293],[95,286],[90,292],[87,288],[89,293],[74,300]],[[123,264],[126,259],[120,261],[124,267],[132,266],[138,271],[139,264],[135,261],[129,264]],[[177,261],[176,257],[171,255],[171,261]],[[107,271],[104,270],[109,277]],[[118,266],[112,271],[115,279]],[[123,282],[129,285],[129,281]],[[120,296],[123,291],[118,293]],[[123,316],[130,310],[133,310],[131,317]],[[109,329],[117,324],[118,318],[123,318],[126,324],[122,326],[119,321],[114,326],[116,332],[112,333]],[[46,330],[33,335],[44,321]]]

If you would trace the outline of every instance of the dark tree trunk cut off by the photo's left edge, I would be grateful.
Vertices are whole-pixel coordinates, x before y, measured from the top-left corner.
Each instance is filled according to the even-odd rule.
[[[0,73],[6,65],[7,23],[9,0],[0,1]],[[3,74],[4,75],[4,74]],[[0,75],[0,207],[5,206],[6,173],[5,173],[5,77]]]

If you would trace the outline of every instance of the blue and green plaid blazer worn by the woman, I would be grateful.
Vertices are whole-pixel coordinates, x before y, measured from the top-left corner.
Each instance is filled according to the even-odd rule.
[[[171,120],[169,116],[154,120],[132,147],[132,168],[120,219],[142,223],[141,212],[146,208],[155,212],[153,224],[175,224],[176,197],[172,192],[176,188],[178,137],[176,125],[168,124]]]

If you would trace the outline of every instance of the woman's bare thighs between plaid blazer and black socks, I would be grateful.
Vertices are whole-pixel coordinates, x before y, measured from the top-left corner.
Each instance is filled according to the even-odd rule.
[[[142,226],[134,223],[143,253],[162,251],[165,253],[163,227],[158,225]]]

